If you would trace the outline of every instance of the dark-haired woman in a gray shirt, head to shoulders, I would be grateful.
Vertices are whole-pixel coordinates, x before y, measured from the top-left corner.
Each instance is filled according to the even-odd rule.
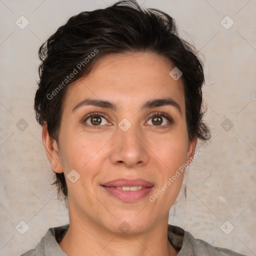
[[[201,61],[135,1],[81,12],[39,49],[36,119],[70,223],[28,255],[241,255],[168,225],[202,121]]]

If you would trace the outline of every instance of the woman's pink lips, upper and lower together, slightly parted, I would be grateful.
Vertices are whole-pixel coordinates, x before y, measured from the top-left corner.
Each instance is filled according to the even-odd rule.
[[[130,191],[130,190],[121,190],[116,186],[144,186],[144,188]],[[134,202],[137,201],[149,194],[153,188],[153,184],[144,179],[125,179],[118,178],[110,180],[101,185],[110,195],[123,202]]]

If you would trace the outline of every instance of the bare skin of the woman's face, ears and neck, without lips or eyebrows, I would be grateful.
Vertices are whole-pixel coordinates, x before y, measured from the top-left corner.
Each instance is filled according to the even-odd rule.
[[[183,84],[169,75],[173,67],[155,53],[105,55],[88,76],[68,85],[58,143],[43,125],[52,169],[65,176],[75,169],[80,175],[74,183],[66,178],[70,226],[59,246],[69,256],[177,255],[167,239],[167,224],[183,174],[154,202],[148,199],[193,157],[197,141],[188,140]],[[166,96],[178,103],[181,113],[171,105],[140,110],[145,101]],[[117,109],[83,105],[72,111],[88,97],[111,101]],[[160,115],[162,123],[155,124],[150,114],[158,111],[170,115],[172,123]],[[84,121],[93,112],[107,117],[93,126],[93,117]],[[127,131],[118,127],[123,118],[131,123]],[[100,186],[116,178],[142,178],[154,187],[138,201],[123,202]],[[123,221],[130,226],[126,234],[118,228]]]

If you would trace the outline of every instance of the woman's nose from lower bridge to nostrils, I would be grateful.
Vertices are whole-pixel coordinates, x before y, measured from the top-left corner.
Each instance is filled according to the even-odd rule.
[[[112,141],[110,160],[112,164],[134,168],[147,164],[149,160],[148,148],[141,132],[135,125],[123,131],[120,128]]]

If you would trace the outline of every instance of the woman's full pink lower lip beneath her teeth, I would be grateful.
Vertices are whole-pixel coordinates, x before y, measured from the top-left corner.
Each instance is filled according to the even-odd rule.
[[[116,198],[120,199],[124,202],[134,202],[137,201],[146,195],[152,190],[153,186],[141,188],[135,191],[126,191],[116,188],[115,186],[102,186],[105,188],[111,195],[115,196]]]

